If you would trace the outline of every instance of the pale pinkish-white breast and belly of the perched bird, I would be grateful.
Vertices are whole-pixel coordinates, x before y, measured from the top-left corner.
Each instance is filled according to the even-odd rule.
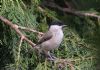
[[[62,30],[56,30],[55,32],[53,31],[52,32],[53,34],[53,37],[42,43],[42,48],[45,49],[45,50],[53,50],[57,47],[59,47],[59,45],[61,44],[62,42],[62,39],[63,39],[63,32]]]

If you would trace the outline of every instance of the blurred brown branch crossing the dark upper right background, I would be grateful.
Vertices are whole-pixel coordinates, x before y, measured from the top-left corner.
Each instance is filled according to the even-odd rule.
[[[43,5],[46,6],[46,7],[58,9],[59,11],[62,11],[66,14],[70,14],[70,15],[74,15],[74,16],[78,16],[78,17],[83,16],[83,17],[93,17],[93,18],[100,19],[100,16],[96,15],[95,13],[83,13],[83,12],[80,12],[80,11],[72,10],[70,8],[62,8],[62,7],[60,7],[59,5],[57,5],[53,2],[44,2]]]

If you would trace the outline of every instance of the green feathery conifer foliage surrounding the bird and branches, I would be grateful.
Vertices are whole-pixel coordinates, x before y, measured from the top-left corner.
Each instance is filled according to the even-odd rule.
[[[48,17],[63,20],[68,25],[64,29],[64,41],[52,53],[58,58],[73,61],[75,70],[96,70],[97,56],[99,56],[97,52],[100,45],[99,19],[61,15],[48,8],[43,12],[39,9],[41,2],[41,0],[1,0],[0,15],[11,20],[14,24],[42,32],[47,30]],[[99,0],[70,0],[69,2],[82,12],[100,12]],[[34,43],[37,42],[36,34],[25,31],[23,33]],[[28,43],[23,42],[22,46],[18,47],[19,40],[16,32],[0,21],[0,70],[57,69],[56,64],[53,65],[44,58],[40,58]],[[20,54],[18,54],[19,52]],[[18,56],[20,56],[19,59]],[[66,66],[65,70],[67,69],[69,66]]]

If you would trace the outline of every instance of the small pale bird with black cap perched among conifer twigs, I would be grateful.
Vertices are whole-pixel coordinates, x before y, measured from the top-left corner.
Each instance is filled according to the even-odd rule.
[[[54,60],[56,57],[52,56],[50,51],[60,46],[64,37],[63,28],[67,25],[57,20],[52,21],[48,25],[48,31],[43,35],[43,37],[38,41],[36,45],[40,46],[49,60]]]

